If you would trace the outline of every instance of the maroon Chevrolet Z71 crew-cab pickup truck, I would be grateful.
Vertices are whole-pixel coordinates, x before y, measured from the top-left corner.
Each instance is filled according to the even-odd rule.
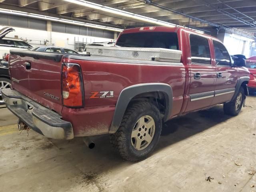
[[[230,59],[220,40],[174,27],[121,32],[116,46],[180,50],[180,62],[11,50],[12,89],[2,90],[20,122],[53,139],[110,134],[122,158],[146,158],[162,123],[224,104],[237,115],[248,95],[243,59]],[[136,54],[138,56],[138,54]]]

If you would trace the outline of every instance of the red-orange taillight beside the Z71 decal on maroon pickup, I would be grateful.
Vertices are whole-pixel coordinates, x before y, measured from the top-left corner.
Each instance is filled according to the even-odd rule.
[[[62,104],[70,108],[84,106],[82,72],[78,64],[62,64]]]

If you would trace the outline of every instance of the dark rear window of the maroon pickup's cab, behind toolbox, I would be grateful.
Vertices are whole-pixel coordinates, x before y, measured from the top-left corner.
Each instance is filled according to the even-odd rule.
[[[118,38],[116,46],[179,49],[178,36],[174,32],[126,33]]]

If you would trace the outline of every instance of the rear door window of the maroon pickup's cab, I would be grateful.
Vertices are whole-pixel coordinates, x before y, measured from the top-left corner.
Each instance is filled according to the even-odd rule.
[[[190,34],[191,62],[211,64],[210,46],[207,38]]]

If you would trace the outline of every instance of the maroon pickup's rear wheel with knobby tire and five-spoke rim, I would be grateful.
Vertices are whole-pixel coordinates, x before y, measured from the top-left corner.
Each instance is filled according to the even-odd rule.
[[[110,136],[110,142],[122,158],[135,162],[152,153],[161,130],[158,108],[148,102],[137,102],[126,110],[117,132]]]

